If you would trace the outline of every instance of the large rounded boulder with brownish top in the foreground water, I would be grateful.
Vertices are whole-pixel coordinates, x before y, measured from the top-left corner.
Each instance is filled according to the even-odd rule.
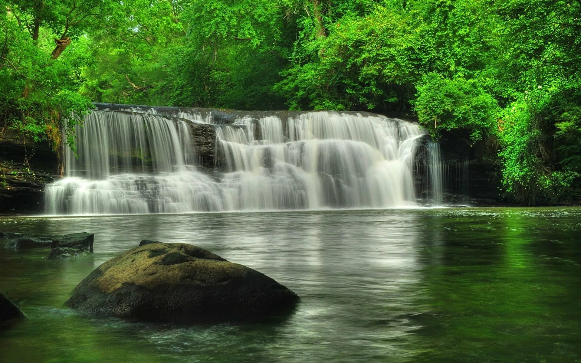
[[[179,323],[262,319],[299,297],[252,268],[184,243],[149,243],[96,268],[66,305],[92,315]]]

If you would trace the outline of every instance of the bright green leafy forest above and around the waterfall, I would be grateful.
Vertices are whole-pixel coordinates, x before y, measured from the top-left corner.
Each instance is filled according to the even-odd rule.
[[[580,0],[0,4],[0,120],[54,150],[92,102],[361,110],[486,140],[515,203],[581,186]]]

